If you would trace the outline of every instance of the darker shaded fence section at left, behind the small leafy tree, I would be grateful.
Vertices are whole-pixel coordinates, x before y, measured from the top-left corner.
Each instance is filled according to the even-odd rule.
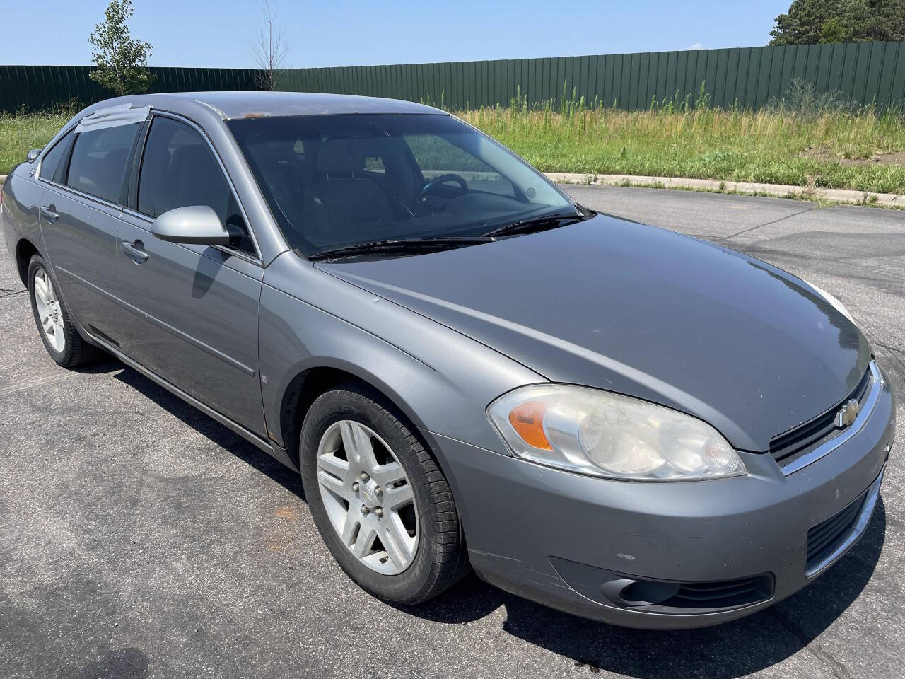
[[[92,66],[0,66],[0,111],[43,110],[76,100],[81,105],[116,96],[88,74]],[[151,68],[152,92],[254,90],[254,69]]]

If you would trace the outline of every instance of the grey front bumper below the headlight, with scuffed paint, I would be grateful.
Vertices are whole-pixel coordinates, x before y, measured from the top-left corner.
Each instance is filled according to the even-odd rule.
[[[701,482],[595,479],[425,434],[450,477],[472,567],[482,579],[582,617],[683,628],[768,607],[853,546],[880,490],[894,407],[886,379],[862,430],[831,454],[786,476],[769,454],[741,453],[747,476]],[[808,531],[850,505],[851,530],[815,569]],[[768,592],[755,603],[681,610],[613,597],[618,580],[654,588],[750,580]]]

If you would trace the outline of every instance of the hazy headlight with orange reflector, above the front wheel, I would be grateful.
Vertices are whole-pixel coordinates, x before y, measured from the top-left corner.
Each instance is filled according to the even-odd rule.
[[[487,408],[514,454],[571,472],[633,481],[747,473],[719,432],[671,408],[569,385],[519,387]]]

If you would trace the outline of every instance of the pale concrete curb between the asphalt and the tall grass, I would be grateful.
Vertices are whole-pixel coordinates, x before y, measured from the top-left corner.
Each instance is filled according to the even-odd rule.
[[[570,172],[546,172],[549,179],[557,184],[584,184],[586,186],[657,186],[662,188],[687,188],[697,191],[752,194],[787,198],[801,197],[805,200],[823,198],[839,203],[858,205],[880,205],[905,207],[905,196],[901,194],[875,194],[870,191],[852,191],[845,188],[818,188],[810,186],[787,186],[785,184],[757,184],[754,182],[729,182],[716,179],[691,179],[683,177],[643,177],[641,175],[595,175]]]

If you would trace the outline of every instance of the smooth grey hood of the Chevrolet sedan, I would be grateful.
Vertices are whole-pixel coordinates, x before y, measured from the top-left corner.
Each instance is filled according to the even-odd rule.
[[[316,265],[552,381],[698,416],[740,450],[765,451],[838,404],[870,359],[853,323],[795,276],[611,216],[441,253]]]

